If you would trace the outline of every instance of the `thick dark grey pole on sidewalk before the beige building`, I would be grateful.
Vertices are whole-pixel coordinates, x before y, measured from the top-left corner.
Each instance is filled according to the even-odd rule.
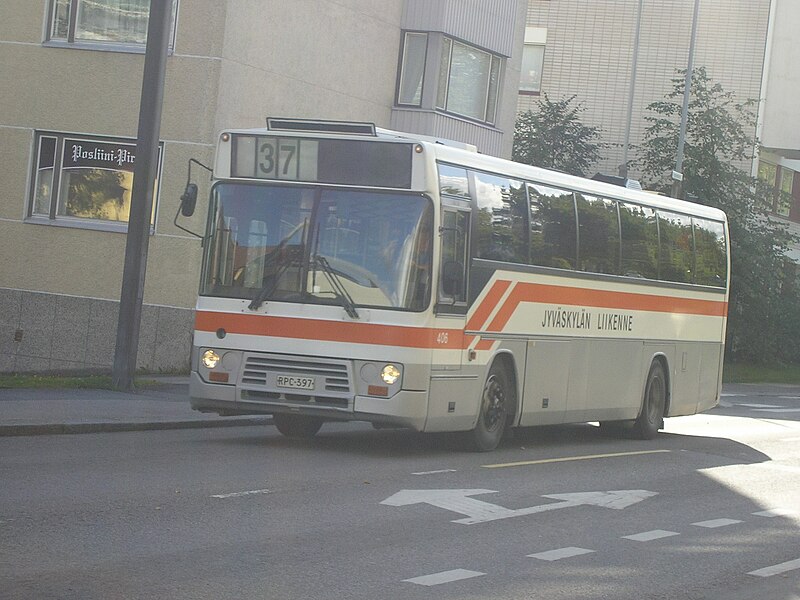
[[[158,169],[158,138],[161,131],[161,106],[164,99],[164,74],[172,22],[172,0],[151,0],[144,56],[142,96],[139,103],[139,133],[133,169],[131,212],[125,243],[117,345],[114,350],[112,385],[116,390],[133,389],[139,326],[142,319],[147,247],[150,242],[150,215],[153,187]]]

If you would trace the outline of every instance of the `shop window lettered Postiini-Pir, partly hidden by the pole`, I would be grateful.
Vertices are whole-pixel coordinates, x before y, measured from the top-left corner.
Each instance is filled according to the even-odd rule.
[[[126,231],[135,140],[38,132],[28,218],[34,222]],[[158,175],[153,193],[155,223]]]

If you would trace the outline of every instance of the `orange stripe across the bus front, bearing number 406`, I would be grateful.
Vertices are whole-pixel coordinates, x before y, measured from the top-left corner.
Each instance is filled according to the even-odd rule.
[[[404,348],[464,348],[464,331],[433,327],[402,327],[343,321],[323,321],[269,315],[198,311],[195,329],[303,340],[399,346]]]

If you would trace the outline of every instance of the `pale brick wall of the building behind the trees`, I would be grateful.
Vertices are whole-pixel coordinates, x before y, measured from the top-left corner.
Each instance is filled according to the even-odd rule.
[[[791,1],[791,0],[789,0]],[[527,25],[547,28],[542,91],[552,100],[577,96],[581,119],[599,127],[613,146],[595,170],[616,174],[622,161],[638,0],[529,0]],[[770,0],[703,0],[698,19],[695,66],[739,100],[760,97]],[[673,89],[685,69],[694,2],[644,2],[631,143],[647,126],[648,104]],[[536,96],[520,96],[519,110],[534,108]],[[634,153],[631,153],[631,158]],[[635,176],[635,172],[632,172]]]

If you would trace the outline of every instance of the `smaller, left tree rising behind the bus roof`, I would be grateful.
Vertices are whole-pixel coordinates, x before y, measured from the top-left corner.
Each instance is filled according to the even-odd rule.
[[[584,125],[580,113],[585,109],[573,104],[575,96],[553,102],[543,94],[536,112],[517,117],[514,128],[513,158],[517,162],[585,175],[600,158],[604,144],[597,142],[600,131]]]

